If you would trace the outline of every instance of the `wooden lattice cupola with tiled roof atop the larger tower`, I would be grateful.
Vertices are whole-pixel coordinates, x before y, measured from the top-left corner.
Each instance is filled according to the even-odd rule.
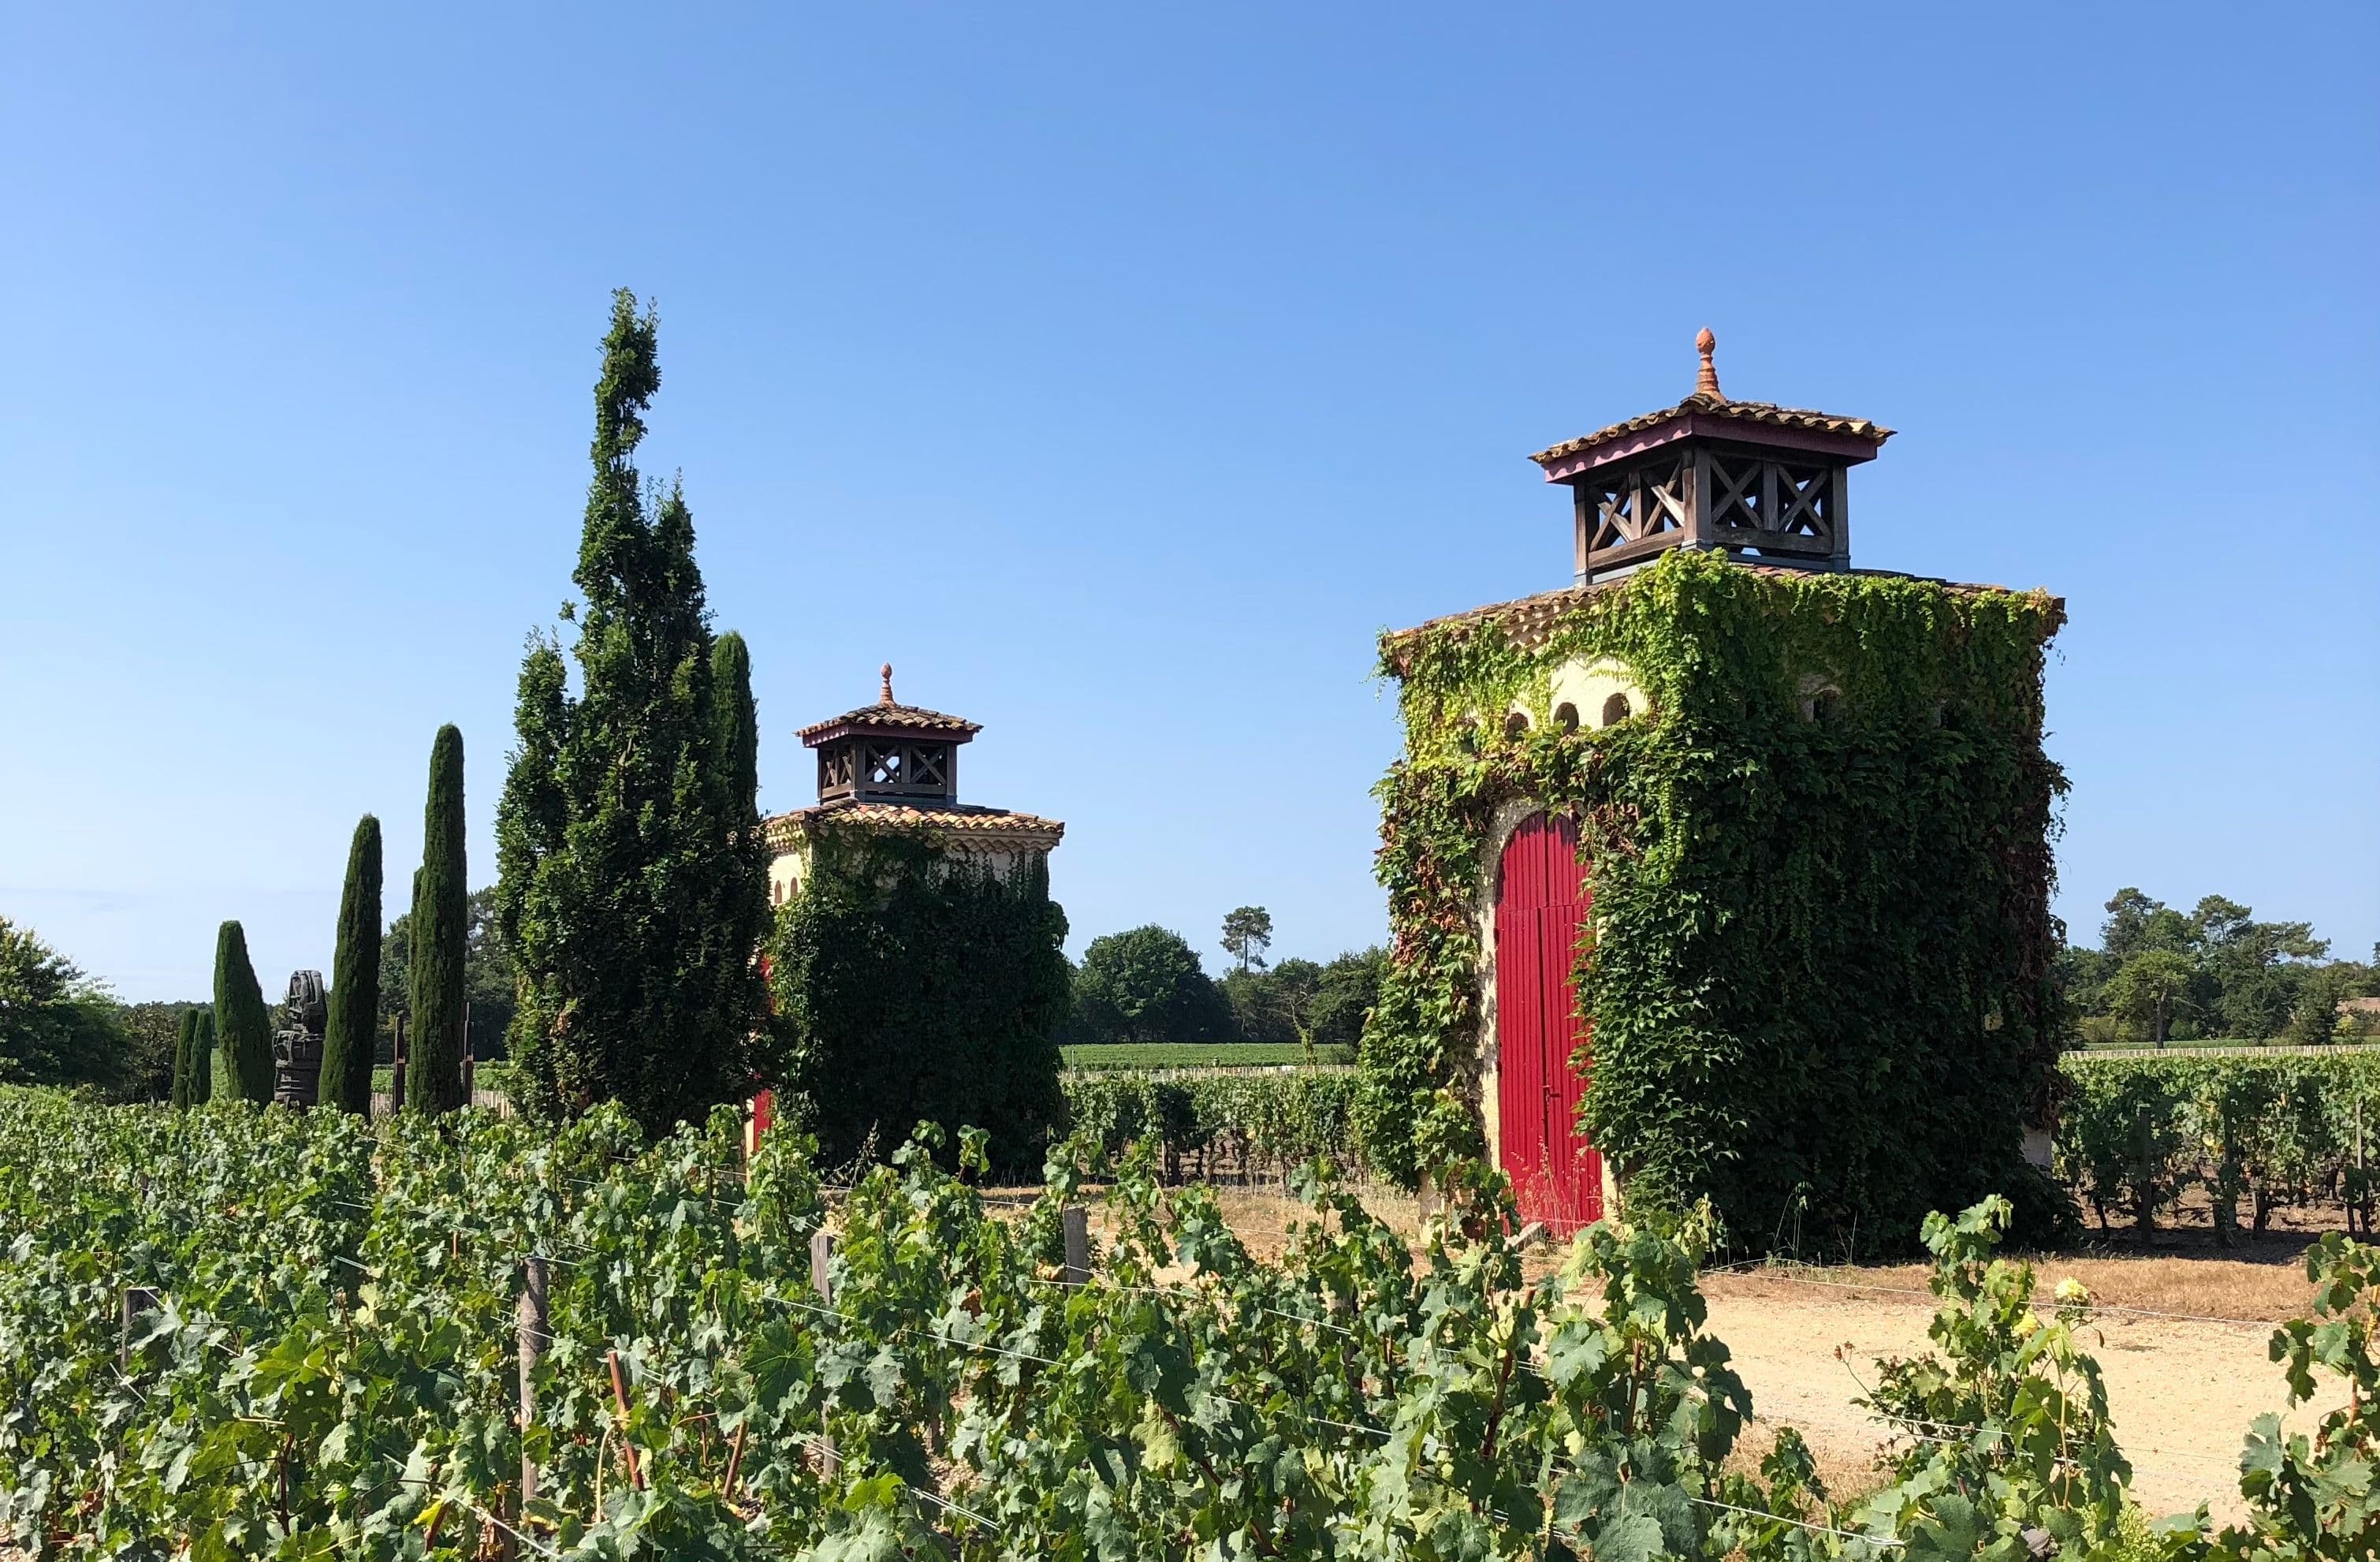
[[[1578,583],[1652,562],[1666,548],[1726,548],[1795,569],[1852,567],[1849,469],[1892,429],[1864,417],[1735,402],[1718,393],[1709,331],[1702,371],[1676,407],[1611,424],[1530,460],[1573,495]]]

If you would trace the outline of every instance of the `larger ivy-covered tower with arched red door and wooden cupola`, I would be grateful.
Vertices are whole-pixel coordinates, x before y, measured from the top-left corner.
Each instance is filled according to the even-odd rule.
[[[1564,1229],[1709,1198],[1875,1252],[2056,1222],[2042,648],[2063,602],[1854,569],[1856,417],[1692,395],[1533,460],[1573,583],[1395,631],[1361,1126]],[[2030,1157],[2030,1160],[2028,1160]]]

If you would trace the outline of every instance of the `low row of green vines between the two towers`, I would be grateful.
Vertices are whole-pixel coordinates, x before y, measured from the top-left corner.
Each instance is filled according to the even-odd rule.
[[[1166,1179],[1180,1179],[1192,1157],[1200,1179],[1283,1174],[1316,1155],[1361,1172],[1354,1093],[1352,1071],[1159,1079],[1109,1069],[1066,1076],[1066,1114],[1097,1131],[1109,1155],[1154,1141]]]

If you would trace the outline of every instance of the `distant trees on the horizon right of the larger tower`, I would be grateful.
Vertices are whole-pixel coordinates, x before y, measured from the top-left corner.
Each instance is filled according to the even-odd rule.
[[[2137,888],[2106,902],[2099,948],[2066,948],[2059,983],[2078,1041],[2359,1041],[2354,998],[2380,995],[2373,962],[2330,960],[2306,921],[2256,921],[2206,895],[2182,912]]]

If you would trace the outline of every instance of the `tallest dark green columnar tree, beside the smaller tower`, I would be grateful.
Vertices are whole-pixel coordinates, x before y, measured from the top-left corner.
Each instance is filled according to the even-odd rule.
[[[581,693],[536,636],[497,810],[519,1098],[543,1117],[619,1100],[647,1131],[750,1091],[769,921],[747,660],[714,664],[685,493],[647,493],[633,462],[654,350],[652,312],[616,293],[574,574]]]

